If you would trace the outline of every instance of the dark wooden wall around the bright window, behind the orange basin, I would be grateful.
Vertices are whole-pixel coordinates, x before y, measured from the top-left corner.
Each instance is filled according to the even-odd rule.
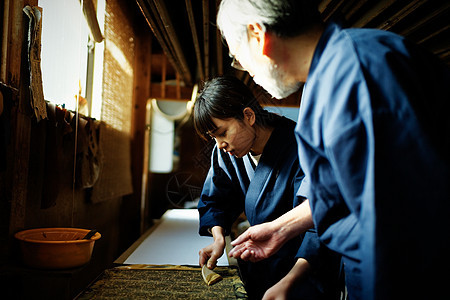
[[[134,3],[133,3],[134,4]],[[125,251],[140,235],[140,200],[142,179],[145,101],[149,95],[151,32],[137,6],[126,0],[108,0],[120,11],[119,23],[132,30],[134,82],[130,97],[133,104],[129,120],[132,151],[133,194],[114,197],[100,203],[89,200],[89,190],[73,188],[74,141],[67,136],[59,167],[59,190],[55,203],[42,208],[39,197],[39,157],[36,140],[40,125],[30,108],[27,83],[28,65],[24,57],[25,5],[38,0],[1,1],[1,92],[5,107],[0,115],[0,133],[4,168],[0,169],[0,288],[8,299],[72,299]],[[108,10],[108,7],[107,7]],[[127,49],[129,51],[129,49]],[[116,80],[120,80],[117,78]],[[118,82],[119,84],[120,82]],[[106,149],[112,151],[112,149]],[[104,161],[114,164],[114,161]],[[45,185],[45,182],[43,183]],[[41,271],[24,267],[14,233],[35,227],[95,228],[102,238],[94,247],[91,262],[68,271]]]

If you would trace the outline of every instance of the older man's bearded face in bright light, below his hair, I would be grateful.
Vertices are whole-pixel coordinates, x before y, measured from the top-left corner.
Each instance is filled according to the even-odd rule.
[[[259,48],[255,47],[252,40],[248,42],[243,39],[239,45],[233,46],[230,46],[230,53],[234,53],[242,68],[273,97],[283,99],[300,88],[301,84],[290,80],[288,74],[283,72],[275,61],[257,51]]]

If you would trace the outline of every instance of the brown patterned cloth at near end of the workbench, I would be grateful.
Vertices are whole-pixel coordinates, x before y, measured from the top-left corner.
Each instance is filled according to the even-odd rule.
[[[223,279],[208,286],[200,268],[117,267],[106,270],[77,299],[247,299],[236,269],[214,271]]]

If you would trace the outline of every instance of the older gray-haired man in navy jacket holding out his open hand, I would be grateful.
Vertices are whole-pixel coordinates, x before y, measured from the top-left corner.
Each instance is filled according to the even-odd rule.
[[[450,70],[396,34],[322,23],[312,0],[223,0],[233,65],[272,96],[303,84],[296,207],[230,255],[258,261],[304,232],[344,261],[350,299],[436,299],[450,280]],[[306,221],[305,221],[306,220]]]

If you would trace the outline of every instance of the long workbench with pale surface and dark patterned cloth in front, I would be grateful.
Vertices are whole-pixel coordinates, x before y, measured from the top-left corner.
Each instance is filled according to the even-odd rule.
[[[214,269],[223,279],[203,281],[198,252],[213,239],[199,236],[198,222],[196,209],[168,210],[77,299],[247,299],[237,263],[226,254]]]

